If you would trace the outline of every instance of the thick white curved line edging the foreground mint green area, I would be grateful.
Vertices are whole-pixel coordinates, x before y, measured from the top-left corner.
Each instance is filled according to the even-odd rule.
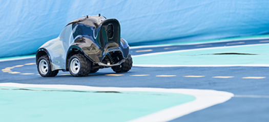
[[[93,87],[82,85],[36,85],[36,84],[20,84],[20,83],[0,83],[0,86],[10,87],[34,87],[34,88],[61,88],[61,89],[78,89],[78,90],[94,90],[94,91],[118,91],[118,92],[158,92],[158,93],[175,93],[194,96],[194,101],[180,104],[174,107],[163,109],[155,113],[130,120],[136,121],[169,121],[180,116],[198,111],[210,106],[223,103],[234,94],[209,89],[187,89],[187,88],[141,88],[141,87]]]

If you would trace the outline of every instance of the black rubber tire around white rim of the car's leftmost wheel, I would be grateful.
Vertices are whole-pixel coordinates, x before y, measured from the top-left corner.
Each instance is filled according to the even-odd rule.
[[[48,64],[48,72],[47,74],[42,74],[39,70],[39,62],[42,60],[42,59],[45,59],[47,64]],[[37,60],[37,70],[38,70],[38,73],[42,76],[42,77],[55,77],[57,74],[58,74],[58,70],[54,70],[54,71],[51,71],[51,65],[50,65],[50,58],[48,55],[43,55],[41,57],[38,58]]]

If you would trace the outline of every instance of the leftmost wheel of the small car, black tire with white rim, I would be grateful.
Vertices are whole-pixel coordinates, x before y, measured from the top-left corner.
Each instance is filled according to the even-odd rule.
[[[42,77],[54,77],[58,74],[58,70],[51,71],[50,58],[43,55],[37,60],[37,70]]]

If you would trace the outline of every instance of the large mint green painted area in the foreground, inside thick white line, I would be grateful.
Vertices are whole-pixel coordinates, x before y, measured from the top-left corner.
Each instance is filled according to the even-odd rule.
[[[1,121],[127,121],[195,100],[183,94],[121,93],[0,89]]]

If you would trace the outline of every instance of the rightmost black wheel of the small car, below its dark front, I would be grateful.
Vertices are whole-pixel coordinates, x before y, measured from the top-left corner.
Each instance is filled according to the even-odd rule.
[[[119,66],[112,67],[112,70],[116,73],[128,72],[129,70],[131,70],[132,66],[133,66],[133,59],[129,54],[128,58],[125,60],[124,63],[122,63]]]

